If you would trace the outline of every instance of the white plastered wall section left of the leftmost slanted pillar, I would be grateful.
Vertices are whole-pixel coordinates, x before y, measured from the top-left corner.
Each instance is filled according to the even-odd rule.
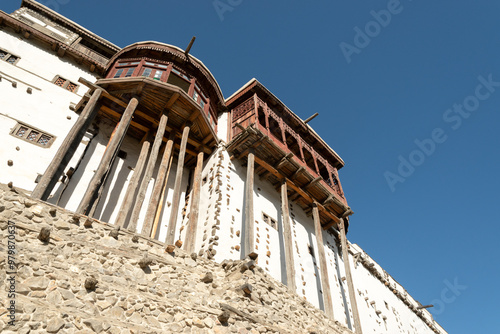
[[[78,119],[69,109],[70,103],[78,103],[87,91],[80,86],[76,94],[69,92],[54,85],[54,77],[60,75],[74,83],[80,77],[89,81],[96,77],[36,41],[4,29],[0,30],[0,47],[20,60],[15,65],[0,60],[0,182],[12,181],[17,187],[32,191],[37,175],[45,172]],[[55,141],[45,148],[10,135],[18,121],[55,136]],[[12,160],[12,166],[7,165],[8,160]]]

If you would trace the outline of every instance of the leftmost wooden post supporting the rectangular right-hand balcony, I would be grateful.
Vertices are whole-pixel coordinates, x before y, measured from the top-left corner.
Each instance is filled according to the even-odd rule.
[[[245,238],[243,240],[242,258],[255,255],[254,246],[254,213],[253,213],[253,180],[255,171],[255,155],[253,149],[248,153],[247,181],[245,187]]]

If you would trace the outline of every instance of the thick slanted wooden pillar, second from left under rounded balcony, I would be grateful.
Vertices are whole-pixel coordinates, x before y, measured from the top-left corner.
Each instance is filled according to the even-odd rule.
[[[102,156],[101,162],[99,163],[99,167],[94,173],[92,180],[90,181],[89,186],[87,187],[87,191],[83,195],[82,201],[80,205],[76,209],[76,213],[86,214],[89,210],[89,207],[92,205],[92,200],[96,192],[102,186],[103,176],[106,174],[108,168],[110,168],[110,163],[113,160],[113,156],[118,152],[120,148],[120,144],[127,133],[127,129],[130,125],[130,121],[132,120],[132,115],[134,114],[135,108],[139,101],[136,98],[132,98],[123,113],[123,116],[120,119],[120,125],[116,130],[115,135],[109,141],[108,148],[104,152]]]

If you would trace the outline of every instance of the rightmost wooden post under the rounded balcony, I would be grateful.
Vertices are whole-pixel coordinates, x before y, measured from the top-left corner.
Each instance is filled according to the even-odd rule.
[[[194,252],[196,242],[196,231],[198,230],[198,217],[200,213],[201,199],[201,172],[203,171],[203,150],[200,148],[198,159],[196,161],[196,169],[194,171],[194,184],[191,199],[191,209],[189,210],[189,224],[186,231],[186,239],[184,249],[188,253]]]

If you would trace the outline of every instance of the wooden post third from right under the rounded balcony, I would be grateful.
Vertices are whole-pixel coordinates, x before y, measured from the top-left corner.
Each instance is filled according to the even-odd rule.
[[[160,168],[158,169],[158,175],[156,176],[155,186],[153,188],[153,193],[151,194],[151,199],[149,200],[146,217],[144,218],[144,224],[142,226],[141,234],[146,237],[151,236],[152,238],[154,238],[154,235],[151,235],[151,230],[153,228],[156,211],[158,209],[158,203],[160,202],[160,197],[163,191],[163,186],[166,182],[166,176],[170,168],[169,161],[172,155],[173,146],[174,132],[171,132],[170,137],[167,141],[167,146],[165,147],[165,151],[163,152],[163,156],[161,158]]]

